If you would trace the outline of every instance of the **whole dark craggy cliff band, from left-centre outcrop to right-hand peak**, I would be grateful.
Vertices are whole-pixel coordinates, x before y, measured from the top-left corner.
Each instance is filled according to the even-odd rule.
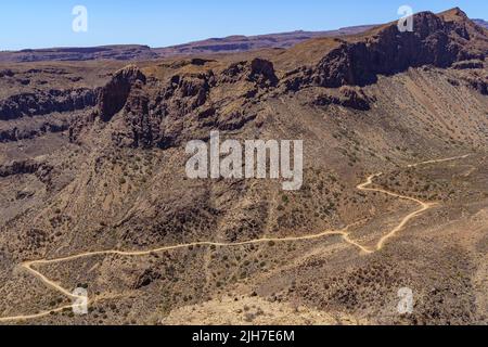
[[[189,139],[205,140],[211,129],[241,129],[256,119],[249,105],[271,91],[319,87],[324,89],[310,104],[369,111],[375,98],[361,87],[374,83],[378,75],[424,65],[483,68],[487,38],[483,28],[453,10],[415,15],[413,33],[400,33],[395,23],[337,39],[316,65],[282,73],[281,79],[273,63],[259,57],[210,69],[203,62],[200,73],[175,74],[166,81],[149,80],[131,65],[100,90],[94,117],[107,123],[120,114],[123,126],[112,133],[117,145],[165,149]],[[485,81],[476,74],[464,83],[484,93]]]

